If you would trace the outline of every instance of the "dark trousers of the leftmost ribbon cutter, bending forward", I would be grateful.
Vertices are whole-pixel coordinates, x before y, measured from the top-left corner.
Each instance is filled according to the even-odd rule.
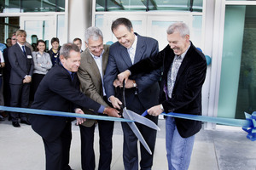
[[[70,170],[69,151],[72,139],[71,122],[67,122],[61,135],[54,141],[44,141],[46,170]]]

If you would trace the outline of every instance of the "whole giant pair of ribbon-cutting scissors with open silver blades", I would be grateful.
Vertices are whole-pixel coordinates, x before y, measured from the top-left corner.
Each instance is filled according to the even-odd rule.
[[[160,131],[160,127],[158,127],[154,122],[152,122],[148,118],[146,118],[144,116],[140,116],[136,112],[126,109],[126,104],[125,104],[125,81],[123,82],[123,104],[124,104],[123,117],[125,119],[133,121],[133,122],[127,122],[129,127],[131,127],[132,132],[137,136],[137,139],[143,144],[144,148],[148,151],[148,153],[150,155],[152,155],[152,152],[151,152],[150,148],[148,147],[147,142],[143,138],[143,135],[139,131],[139,129],[137,128],[135,122],[139,122],[139,123],[141,123],[141,124],[143,124],[147,127],[153,128],[154,130],[158,130],[158,131]]]

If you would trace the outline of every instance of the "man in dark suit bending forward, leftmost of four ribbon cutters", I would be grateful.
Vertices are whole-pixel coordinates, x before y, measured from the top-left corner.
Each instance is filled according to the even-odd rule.
[[[55,65],[44,77],[35,94],[32,108],[50,111],[75,111],[84,114],[79,107],[93,112],[119,117],[119,112],[100,105],[79,91],[76,72],[80,65],[78,46],[64,44],[60,50],[61,64]],[[71,169],[69,150],[72,139],[71,118],[61,116],[31,116],[32,128],[44,141],[47,170]],[[77,118],[81,124],[84,119]]]

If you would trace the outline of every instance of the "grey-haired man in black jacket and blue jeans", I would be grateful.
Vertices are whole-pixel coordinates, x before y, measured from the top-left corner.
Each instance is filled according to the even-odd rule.
[[[163,66],[160,105],[148,110],[152,116],[161,112],[201,115],[201,88],[206,78],[207,61],[204,54],[189,41],[189,27],[174,23],[167,29],[166,46],[159,54],[132,65],[119,74],[119,81],[129,75],[152,71]],[[166,152],[169,169],[188,169],[201,122],[166,117]]]

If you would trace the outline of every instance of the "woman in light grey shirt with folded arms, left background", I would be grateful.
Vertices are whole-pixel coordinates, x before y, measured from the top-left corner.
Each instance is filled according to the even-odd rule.
[[[31,100],[34,99],[34,95],[38,89],[39,83],[42,81],[46,73],[52,67],[50,56],[45,53],[46,44],[44,40],[38,40],[37,52],[32,52],[34,61],[34,71],[32,75],[32,88],[31,88]]]

